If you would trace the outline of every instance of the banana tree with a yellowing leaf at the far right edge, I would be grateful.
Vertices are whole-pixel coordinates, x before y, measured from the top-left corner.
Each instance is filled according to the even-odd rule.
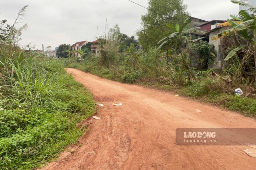
[[[247,11],[240,11],[239,17],[230,15],[233,20],[227,20],[229,25],[231,26],[230,29],[222,31],[212,39],[218,39],[220,37],[234,34],[236,39],[240,43],[240,46],[233,49],[224,59],[224,61],[230,60],[234,57],[239,51],[244,50],[246,55],[244,55],[243,62],[248,61],[251,57],[254,58],[254,82],[256,81],[256,8],[246,4],[244,2],[240,2],[238,0],[231,0],[234,4],[239,4],[241,6],[248,7]],[[252,14],[249,14],[251,12]]]

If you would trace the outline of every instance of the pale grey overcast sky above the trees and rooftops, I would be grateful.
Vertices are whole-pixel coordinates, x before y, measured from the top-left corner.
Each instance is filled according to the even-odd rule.
[[[132,0],[147,7],[147,0]],[[36,48],[78,41],[94,41],[105,30],[106,18],[109,27],[116,23],[121,32],[135,35],[141,27],[141,16],[146,9],[128,0],[0,0],[0,20],[12,23],[18,11],[28,5],[27,16],[20,26],[28,23],[22,33],[20,45],[31,43]],[[191,16],[203,20],[226,20],[230,14],[238,14],[238,5],[230,0],[184,0]],[[98,26],[98,29],[97,29]],[[99,31],[98,31],[99,30]]]

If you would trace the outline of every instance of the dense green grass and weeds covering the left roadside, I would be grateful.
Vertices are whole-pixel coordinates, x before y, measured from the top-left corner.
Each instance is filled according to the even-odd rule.
[[[31,169],[56,158],[87,127],[76,123],[95,111],[92,94],[58,60],[20,49],[27,25],[0,21],[0,169]]]

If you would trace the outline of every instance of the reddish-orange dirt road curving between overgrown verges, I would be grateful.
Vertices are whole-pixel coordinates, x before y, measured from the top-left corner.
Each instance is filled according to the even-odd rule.
[[[67,69],[104,104],[90,131],[49,170],[255,169],[246,146],[178,146],[176,128],[252,128],[254,119],[160,90],[113,82]],[[122,102],[122,106],[112,106]],[[201,113],[195,112],[202,110]],[[87,123],[87,121],[86,121]]]

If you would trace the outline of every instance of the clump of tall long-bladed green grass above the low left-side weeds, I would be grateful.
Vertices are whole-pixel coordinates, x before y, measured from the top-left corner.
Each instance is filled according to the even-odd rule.
[[[23,56],[23,51],[20,53]],[[40,58],[38,58],[40,59]],[[1,88],[9,94],[7,98],[32,104],[42,104],[42,99],[54,102],[54,92],[62,91],[62,85],[56,84],[60,71],[50,72],[44,68],[53,61],[35,62],[34,57],[27,59],[8,59],[1,62],[5,68]]]

